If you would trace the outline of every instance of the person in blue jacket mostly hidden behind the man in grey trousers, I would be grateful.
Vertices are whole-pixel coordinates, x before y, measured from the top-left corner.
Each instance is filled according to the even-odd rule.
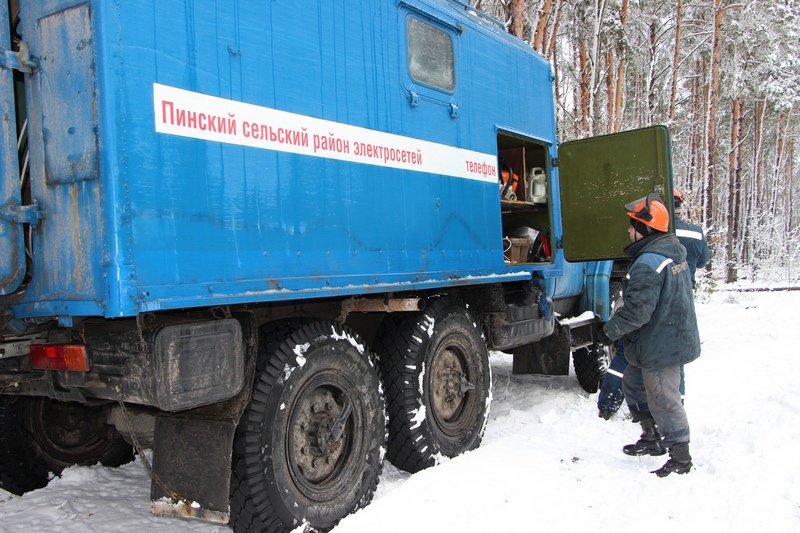
[[[683,195],[678,189],[672,191],[675,206],[675,235],[686,248],[686,262],[692,274],[692,287],[695,287],[695,271],[708,264],[710,251],[702,228],[695,224],[684,222],[678,217],[678,211],[683,205]],[[597,395],[598,416],[608,420],[622,405],[625,395],[622,393],[622,373],[628,362],[625,360],[625,346],[622,341],[617,342],[617,350],[611,359],[603,384]],[[681,369],[681,397],[686,395],[686,382]]]

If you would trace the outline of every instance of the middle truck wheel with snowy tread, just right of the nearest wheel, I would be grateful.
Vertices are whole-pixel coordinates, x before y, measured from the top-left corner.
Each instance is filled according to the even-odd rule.
[[[389,412],[387,458],[418,472],[480,445],[491,400],[483,335],[461,300],[391,317],[376,346]]]

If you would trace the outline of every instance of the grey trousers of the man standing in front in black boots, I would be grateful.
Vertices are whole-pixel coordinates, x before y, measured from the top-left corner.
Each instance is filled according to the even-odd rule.
[[[628,365],[622,378],[633,421],[652,416],[667,448],[689,444],[689,419],[681,401],[680,384],[679,365],[658,370]]]

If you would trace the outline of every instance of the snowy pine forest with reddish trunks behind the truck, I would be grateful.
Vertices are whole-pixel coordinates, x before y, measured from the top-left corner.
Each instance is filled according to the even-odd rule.
[[[665,124],[706,280],[800,280],[800,0],[471,0],[554,68],[560,142]]]

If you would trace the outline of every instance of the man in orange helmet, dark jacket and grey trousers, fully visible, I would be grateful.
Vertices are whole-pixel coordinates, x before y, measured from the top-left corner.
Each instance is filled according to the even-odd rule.
[[[623,448],[628,455],[663,455],[670,459],[654,471],[659,477],[685,474],[692,467],[689,421],[681,401],[681,367],[700,356],[686,249],[669,229],[669,212],[658,197],[625,206],[631,217],[633,257],[622,307],[606,322],[598,341],[622,339],[628,366],[622,379],[639,441]],[[660,433],[659,433],[660,430]],[[662,441],[663,435],[663,441]]]

